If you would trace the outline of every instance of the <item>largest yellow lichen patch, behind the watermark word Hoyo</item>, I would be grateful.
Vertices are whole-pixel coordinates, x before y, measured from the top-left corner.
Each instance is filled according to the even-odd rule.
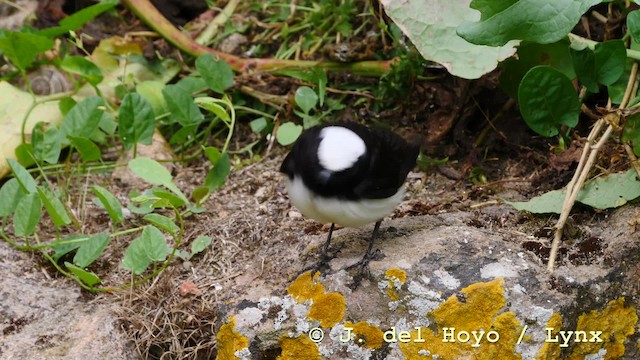
[[[506,303],[502,283],[502,279],[476,283],[462,289],[462,294],[447,299],[431,313],[437,334],[431,329],[416,329],[411,332],[412,341],[399,344],[405,359],[521,359],[520,354],[515,353],[520,322],[513,312],[498,314]],[[474,331],[479,340],[474,337]],[[490,339],[489,332],[493,332]],[[464,336],[460,338],[458,334]]]

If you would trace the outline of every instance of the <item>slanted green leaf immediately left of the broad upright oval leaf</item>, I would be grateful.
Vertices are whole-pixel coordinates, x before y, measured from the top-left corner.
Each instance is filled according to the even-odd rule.
[[[90,96],[67,113],[60,126],[60,141],[69,144],[67,135],[90,138],[98,129],[104,114],[104,100],[97,96]]]

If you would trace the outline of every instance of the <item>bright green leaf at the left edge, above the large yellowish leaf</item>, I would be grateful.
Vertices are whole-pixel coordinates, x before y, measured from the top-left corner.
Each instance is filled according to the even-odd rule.
[[[39,54],[52,47],[53,40],[41,35],[0,30],[0,52],[21,71],[26,70]]]

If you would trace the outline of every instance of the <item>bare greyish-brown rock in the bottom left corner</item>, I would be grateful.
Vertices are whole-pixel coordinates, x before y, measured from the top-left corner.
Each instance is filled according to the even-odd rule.
[[[32,269],[28,254],[0,241],[0,359],[136,359],[115,326],[113,305]]]

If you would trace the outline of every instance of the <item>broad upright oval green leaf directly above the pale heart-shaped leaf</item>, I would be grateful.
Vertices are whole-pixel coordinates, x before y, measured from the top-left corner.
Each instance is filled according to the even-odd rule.
[[[136,143],[151,145],[156,120],[147,100],[137,93],[127,94],[122,100],[118,115],[120,139],[126,149]]]

